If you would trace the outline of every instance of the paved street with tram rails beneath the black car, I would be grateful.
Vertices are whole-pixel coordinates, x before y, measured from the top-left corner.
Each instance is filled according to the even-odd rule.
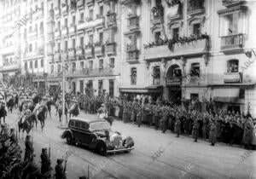
[[[79,117],[90,118],[90,115],[81,111]],[[6,122],[9,128],[16,128],[15,120],[17,110],[12,114],[8,113]],[[256,178],[256,153],[248,153],[241,147],[219,143],[212,147],[207,141],[194,142],[187,136],[177,138],[170,131],[163,134],[160,130],[145,125],[139,128],[135,124],[124,124],[122,121],[114,120],[113,130],[131,136],[135,141],[135,149],[131,153],[102,157],[84,147],[68,146],[66,140],[61,139],[64,130],[58,128],[59,125],[55,110],[52,110],[52,118],[48,116],[46,119],[43,132],[39,123],[38,128],[32,130],[33,145],[38,166],[41,166],[41,149],[49,147],[49,143],[53,168],[56,159],[68,155],[68,179],[87,176],[88,166],[90,178]],[[21,136],[20,133],[20,146],[24,148]],[[244,153],[248,153],[246,158],[242,158]]]

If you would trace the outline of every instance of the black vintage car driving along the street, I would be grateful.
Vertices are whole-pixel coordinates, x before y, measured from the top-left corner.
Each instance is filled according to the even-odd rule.
[[[131,136],[124,137],[117,131],[113,132],[108,121],[99,118],[71,118],[61,138],[66,138],[69,145],[81,144],[104,156],[134,149]]]

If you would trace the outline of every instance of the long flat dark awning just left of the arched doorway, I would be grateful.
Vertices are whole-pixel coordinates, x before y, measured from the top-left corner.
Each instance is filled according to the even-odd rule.
[[[119,88],[122,93],[161,93],[161,86],[148,86],[146,88]]]

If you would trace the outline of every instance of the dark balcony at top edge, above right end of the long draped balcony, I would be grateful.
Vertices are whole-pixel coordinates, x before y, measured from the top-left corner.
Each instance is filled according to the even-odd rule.
[[[195,14],[203,14],[205,13],[205,1],[204,0],[189,0],[188,6],[188,14],[195,15]]]

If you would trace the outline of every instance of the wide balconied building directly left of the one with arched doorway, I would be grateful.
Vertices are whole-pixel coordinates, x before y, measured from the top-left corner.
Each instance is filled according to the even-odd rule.
[[[49,87],[91,95],[118,95],[119,3],[115,0],[48,1]],[[64,64],[64,65],[63,65]]]

